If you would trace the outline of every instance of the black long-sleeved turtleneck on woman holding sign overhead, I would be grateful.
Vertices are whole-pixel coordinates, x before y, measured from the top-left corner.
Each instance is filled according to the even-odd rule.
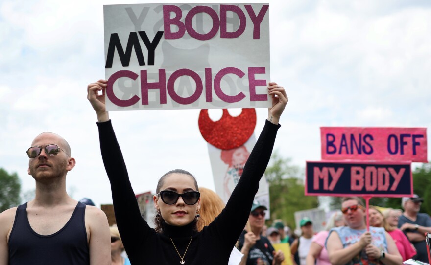
[[[266,121],[226,207],[209,226],[200,232],[193,224],[171,226],[163,223],[163,233],[156,233],[141,217],[138,202],[111,121],[97,123],[100,150],[111,182],[115,218],[121,240],[132,265],[176,265],[184,255],[185,265],[225,265],[250,214],[259,180],[265,172],[280,125]]]

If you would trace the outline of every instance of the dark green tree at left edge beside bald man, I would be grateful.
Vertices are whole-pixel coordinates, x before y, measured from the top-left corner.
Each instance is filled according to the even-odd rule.
[[[8,174],[0,168],[0,212],[21,203],[21,183],[16,173]]]

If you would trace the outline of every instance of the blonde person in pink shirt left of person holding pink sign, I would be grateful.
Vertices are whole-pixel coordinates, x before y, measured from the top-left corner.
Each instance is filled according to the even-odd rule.
[[[329,218],[328,223],[325,226],[325,230],[320,231],[315,235],[310,245],[310,250],[307,254],[306,264],[307,265],[331,265],[329,261],[328,251],[325,248],[325,241],[329,235],[329,230],[334,227],[344,226],[345,221],[343,213],[336,211]]]

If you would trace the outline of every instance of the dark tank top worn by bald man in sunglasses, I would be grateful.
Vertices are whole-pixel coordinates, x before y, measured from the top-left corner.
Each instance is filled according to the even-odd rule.
[[[89,265],[85,204],[78,202],[71,219],[52,235],[37,234],[27,218],[27,203],[17,208],[9,236],[9,265]]]

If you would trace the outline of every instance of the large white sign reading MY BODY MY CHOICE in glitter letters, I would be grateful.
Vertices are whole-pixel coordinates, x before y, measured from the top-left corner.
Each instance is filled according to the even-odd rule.
[[[107,110],[270,107],[268,7],[104,5]]]

